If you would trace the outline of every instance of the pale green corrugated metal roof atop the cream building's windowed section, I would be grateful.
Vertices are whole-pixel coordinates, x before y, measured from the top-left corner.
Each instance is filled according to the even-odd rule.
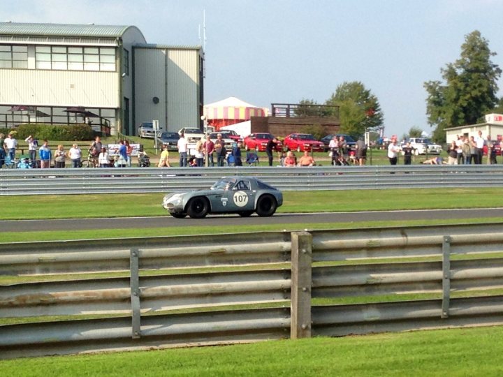
[[[78,36],[118,38],[121,37],[129,27],[131,26],[0,22],[0,34],[12,36]]]

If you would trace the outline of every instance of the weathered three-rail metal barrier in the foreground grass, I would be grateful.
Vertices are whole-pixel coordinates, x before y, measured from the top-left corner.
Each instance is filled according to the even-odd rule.
[[[0,358],[502,325],[502,226],[0,244]]]

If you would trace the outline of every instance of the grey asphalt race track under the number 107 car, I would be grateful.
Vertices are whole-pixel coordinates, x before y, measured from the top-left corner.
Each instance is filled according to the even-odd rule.
[[[238,215],[207,216],[205,219],[175,219],[161,217],[128,217],[103,219],[58,219],[0,221],[0,232],[36,232],[42,230],[88,230],[163,228],[176,226],[217,226],[230,229],[236,225],[347,223],[351,221],[445,220],[503,217],[502,208],[482,209],[427,209],[414,211],[322,212],[316,214],[275,214],[272,217],[256,215],[242,218]]]

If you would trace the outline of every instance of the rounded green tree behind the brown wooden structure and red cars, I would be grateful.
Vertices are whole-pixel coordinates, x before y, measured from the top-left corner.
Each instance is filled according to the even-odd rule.
[[[341,131],[353,137],[375,130],[383,124],[379,101],[361,82],[343,82],[326,101],[339,106]]]

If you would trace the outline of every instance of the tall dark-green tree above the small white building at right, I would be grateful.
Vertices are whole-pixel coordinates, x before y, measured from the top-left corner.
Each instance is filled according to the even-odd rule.
[[[425,82],[428,123],[436,127],[433,140],[445,142],[445,128],[476,124],[495,108],[502,73],[490,60],[495,54],[480,31],[473,31],[465,36],[460,59],[441,69],[444,83]]]

